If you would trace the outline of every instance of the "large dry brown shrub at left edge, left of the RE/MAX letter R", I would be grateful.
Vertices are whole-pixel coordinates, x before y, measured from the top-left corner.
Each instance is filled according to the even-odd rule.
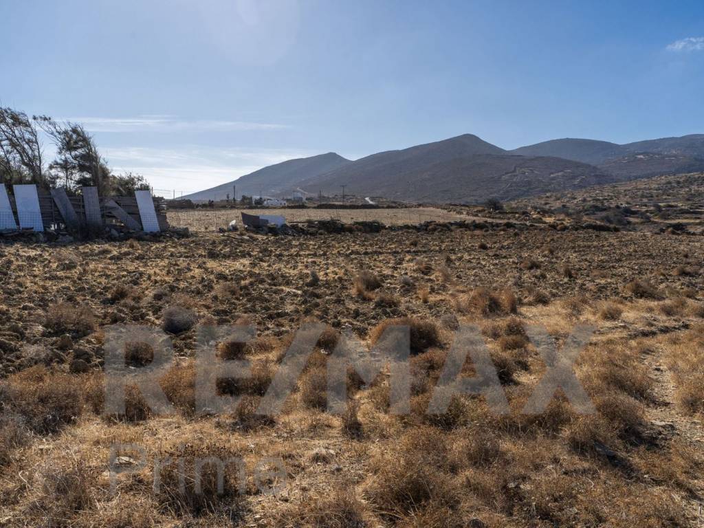
[[[8,377],[0,385],[0,394],[11,413],[21,417],[37,434],[57,432],[83,410],[83,394],[77,377],[48,370],[43,365]]]

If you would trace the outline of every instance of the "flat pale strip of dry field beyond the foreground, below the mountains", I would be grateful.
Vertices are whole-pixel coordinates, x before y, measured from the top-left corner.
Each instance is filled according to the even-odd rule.
[[[464,218],[441,208],[414,207],[398,209],[196,209],[170,210],[168,219],[172,225],[188,227],[196,231],[218,231],[227,228],[232,220],[241,224],[241,214],[283,215],[287,222],[306,222],[306,220],[338,220],[351,223],[382,222],[385,225],[415,225],[422,222],[448,222]]]

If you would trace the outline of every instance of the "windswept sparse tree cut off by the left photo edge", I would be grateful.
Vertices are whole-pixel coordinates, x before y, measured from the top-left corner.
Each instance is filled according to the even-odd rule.
[[[37,127],[27,114],[7,107],[0,107],[0,178],[41,187],[48,183]]]

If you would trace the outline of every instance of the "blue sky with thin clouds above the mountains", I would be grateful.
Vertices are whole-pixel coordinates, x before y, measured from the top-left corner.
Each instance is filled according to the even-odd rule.
[[[0,20],[2,106],[83,122],[177,195],[464,133],[704,133],[701,0],[0,0]]]

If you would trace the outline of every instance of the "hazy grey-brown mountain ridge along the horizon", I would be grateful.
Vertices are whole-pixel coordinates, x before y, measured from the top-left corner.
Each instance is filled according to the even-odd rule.
[[[344,185],[359,196],[478,203],[697,170],[704,170],[704,134],[622,145],[563,138],[513,150],[461,134],[355,161],[334,152],[284,161],[184,198],[225,199],[233,184],[238,196],[330,195]]]

